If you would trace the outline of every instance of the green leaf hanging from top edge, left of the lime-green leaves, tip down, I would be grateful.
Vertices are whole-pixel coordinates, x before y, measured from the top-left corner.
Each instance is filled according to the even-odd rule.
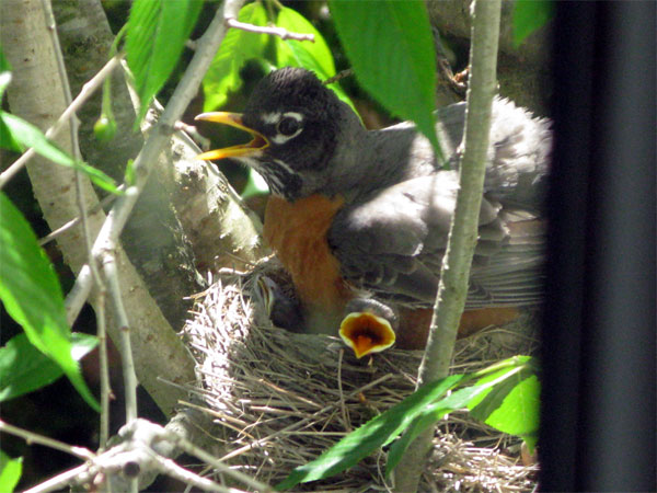
[[[126,58],[141,108],[135,127],[173,72],[203,7],[200,0],[135,0],[130,8]]]

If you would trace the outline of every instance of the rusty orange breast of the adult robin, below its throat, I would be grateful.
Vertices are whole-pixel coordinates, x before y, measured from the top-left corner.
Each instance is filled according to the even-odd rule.
[[[272,196],[265,209],[264,237],[290,273],[306,309],[342,313],[349,298],[326,233],[342,197],[311,195],[295,203]]]

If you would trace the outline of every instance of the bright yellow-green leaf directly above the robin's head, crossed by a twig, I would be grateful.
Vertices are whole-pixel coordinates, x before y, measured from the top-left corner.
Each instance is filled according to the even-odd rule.
[[[276,18],[276,25],[286,28],[290,33],[302,33],[314,35],[314,43],[308,41],[275,38],[276,66],[277,67],[302,67],[312,70],[320,80],[326,80],[335,76],[335,64],[331,48],[322,34],[299,12],[293,9],[283,8]],[[347,103],[354,111],[354,104],[349,96],[337,83],[328,84],[342,101]]]

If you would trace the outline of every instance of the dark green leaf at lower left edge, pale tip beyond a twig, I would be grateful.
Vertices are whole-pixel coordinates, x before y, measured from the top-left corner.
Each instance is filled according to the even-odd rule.
[[[93,335],[73,332],[71,356],[80,360],[97,344]],[[0,347],[0,402],[53,383],[64,371],[36,349],[25,334],[18,334]]]

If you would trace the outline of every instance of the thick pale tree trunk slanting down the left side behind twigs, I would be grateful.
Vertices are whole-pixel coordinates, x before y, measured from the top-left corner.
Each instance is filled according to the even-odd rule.
[[[41,0],[3,0],[0,3],[0,22],[2,47],[13,73],[8,89],[11,111],[45,130],[65,110],[66,100]],[[60,135],[57,144],[70,152],[70,133],[65,130]],[[27,173],[51,229],[78,216],[72,170],[36,157],[27,164]],[[81,194],[87,208],[97,203],[85,177]],[[102,211],[89,216],[93,238],[104,220]],[[57,242],[67,264],[78,273],[87,263],[81,228],[70,229]],[[158,376],[165,375],[169,380],[178,383],[194,381],[193,360],[122,249],[116,251],[116,260],[123,300],[130,320],[137,377],[162,411],[171,414],[184,392],[159,381]],[[110,323],[108,330],[112,339],[118,342],[116,324]]]

